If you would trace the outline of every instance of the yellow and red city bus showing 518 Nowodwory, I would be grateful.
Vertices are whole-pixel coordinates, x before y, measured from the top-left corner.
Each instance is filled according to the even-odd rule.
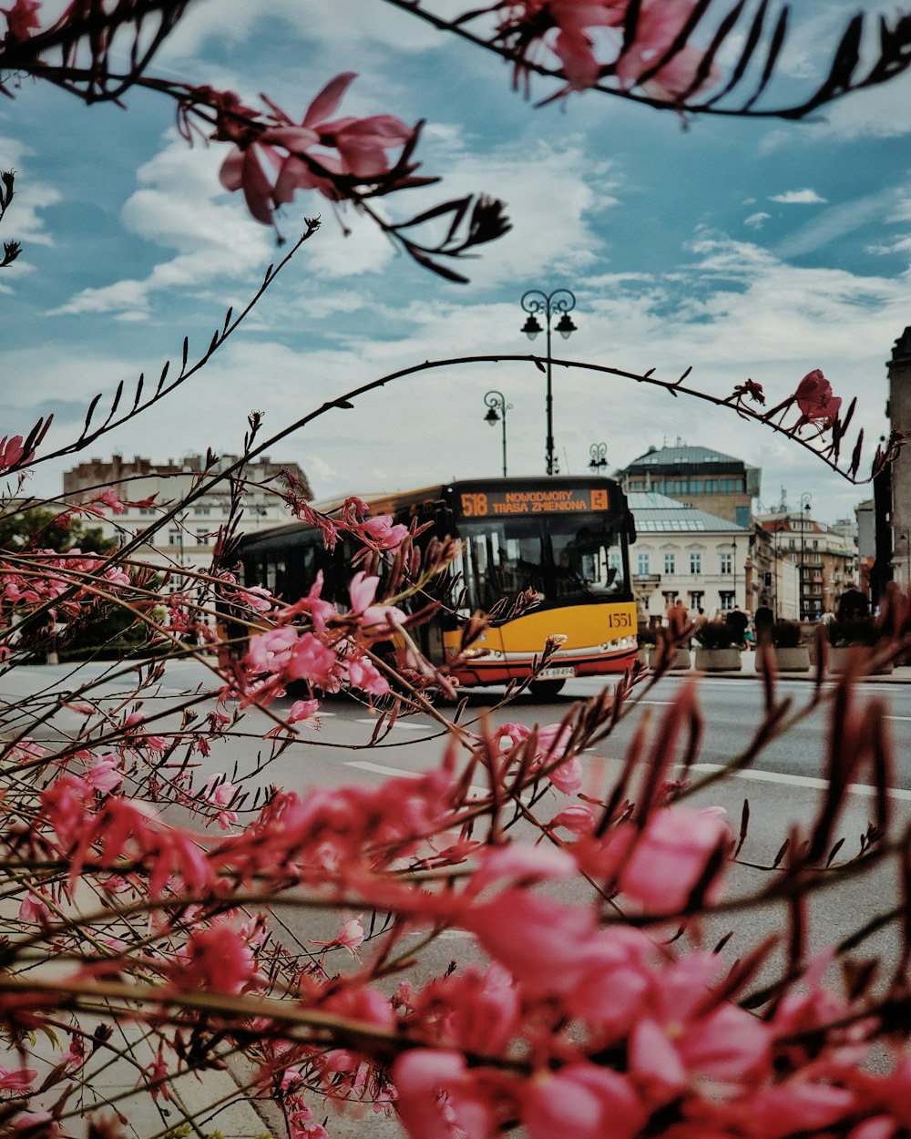
[[[329,514],[344,502],[311,503]],[[637,607],[629,568],[635,527],[622,487],[605,477],[473,478],[368,495],[370,515],[429,523],[417,539],[454,538],[454,604],[415,630],[432,664],[460,686],[506,685],[532,677],[548,639],[556,653],[531,680],[547,698],[575,677],[624,672],[637,658]],[[322,596],[344,607],[352,576],[351,540],[327,550],[306,523],[247,534],[239,547],[243,583],[293,603],[322,571]],[[460,631],[478,609],[532,590],[536,604],[495,621],[473,652],[459,655]]]

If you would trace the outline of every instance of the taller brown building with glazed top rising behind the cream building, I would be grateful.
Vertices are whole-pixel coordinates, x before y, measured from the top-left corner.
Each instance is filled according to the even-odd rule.
[[[650,446],[616,476],[627,492],[655,492],[748,527],[762,470],[707,446]]]

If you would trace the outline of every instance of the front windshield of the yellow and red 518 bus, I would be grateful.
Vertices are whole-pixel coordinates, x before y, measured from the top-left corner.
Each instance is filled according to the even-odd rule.
[[[627,591],[618,523],[602,515],[462,522],[466,604],[489,609],[526,589],[556,605],[618,599]]]

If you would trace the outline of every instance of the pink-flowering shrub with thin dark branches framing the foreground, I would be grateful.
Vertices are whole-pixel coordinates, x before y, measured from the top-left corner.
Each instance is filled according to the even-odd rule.
[[[231,92],[149,76],[187,7],[76,0],[46,21],[38,0],[15,0],[0,9],[3,91],[14,93],[24,75],[87,103],[123,101],[134,87],[158,91],[174,101],[186,138],[230,147],[222,185],[243,192],[257,221],[274,226],[296,191],[315,190],[454,279],[440,259],[462,257],[504,231],[499,204],[484,198],[408,222],[380,215],[377,198],[421,181],[419,126],[388,114],[333,118],[352,73],[323,88],[299,122],[268,98],[258,112]],[[524,0],[456,19],[421,0],[397,7],[507,58],[519,85],[536,74],[560,84],[557,97],[593,88],[680,114],[799,116],[908,62],[900,16],[883,22],[879,56],[860,69],[863,26],[854,19],[821,88],[762,110],[787,6]],[[740,91],[750,68],[748,93],[724,109],[722,97]],[[0,214],[11,173],[2,185]],[[408,232],[434,222],[446,230],[442,240],[421,244]],[[315,231],[314,219],[292,252]],[[274,278],[270,269],[252,305],[265,303]],[[169,379],[165,366],[150,393],[140,377],[129,408],[123,386],[109,403],[99,395],[69,444],[44,449],[43,417],[7,434],[2,473],[20,491],[27,469],[174,398],[248,311],[229,312],[192,364],[184,339],[177,376]],[[537,357],[499,359],[543,367]],[[129,1133],[139,1097],[158,1113],[159,1134],[182,1125],[211,1134],[225,1104],[246,1096],[276,1105],[290,1139],[320,1139],[334,1129],[329,1116],[366,1108],[395,1114],[413,1139],[906,1134],[911,828],[889,794],[896,755],[887,706],[857,686],[875,665],[911,652],[906,597],[888,595],[880,640],[857,649],[834,685],[824,682],[820,640],[804,700],[782,693],[765,655],[758,724],[725,764],[706,770],[698,686],[681,686],[664,711],[650,712],[686,626],[663,636],[655,671],[632,670],[559,720],[528,724],[515,693],[504,702],[516,719],[466,703],[449,714],[441,695],[459,694],[412,636],[441,608],[457,615],[452,541],[371,516],[356,498],[321,511],[288,477],[277,493],[289,516],[327,547],[356,546],[348,604],[339,612],[319,577],[299,598],[238,581],[247,462],[405,372],[482,361],[493,358],[425,361],[371,379],[265,443],[252,412],[241,459],[218,472],[210,452],[190,495],[148,500],[157,517],[116,551],[49,549],[39,532],[0,556],[5,691],[46,647],[49,624],[55,634],[63,626],[65,646],[71,628],[118,609],[146,650],[107,667],[93,661],[47,689],[11,683],[0,708],[2,1133],[115,1139]],[[653,370],[549,362],[728,405],[859,478],[862,435],[842,458],[854,405],[843,415],[818,370],[766,411],[752,379],[720,398],[686,383],[689,370],[663,380]],[[901,442],[877,452],[873,472]],[[143,562],[142,541],[219,480],[230,483],[232,515],[211,564],[163,571]],[[116,514],[124,499],[129,485],[97,487],[60,525]],[[19,507],[10,500],[3,509]],[[503,599],[507,615],[534,604]],[[225,616],[227,644],[215,626]],[[501,618],[468,616],[461,652],[474,652]],[[379,652],[393,634],[409,654],[399,670]],[[542,646],[542,666],[549,650]],[[175,697],[165,685],[182,662],[205,679]],[[299,698],[288,697],[293,685]],[[364,746],[386,746],[396,722],[422,716],[415,778],[289,788],[290,764],[299,768],[315,747],[345,747],[325,738],[335,693],[371,710]],[[732,825],[706,796],[730,797],[738,773],[811,714],[827,722],[824,786],[809,819],[765,850],[750,827],[755,805],[744,800]],[[847,798],[861,779],[871,790],[869,819],[848,844]],[[824,931],[813,927],[812,903],[886,871],[897,885],[888,908],[859,912],[819,949]],[[757,913],[768,916],[760,932]],[[879,954],[872,947],[884,931],[893,942]],[[448,936],[458,937],[462,960],[436,969],[428,957],[452,944]],[[114,1059],[130,1079],[110,1091]],[[204,1083],[228,1064],[239,1085],[202,1111],[187,1108],[181,1081]],[[367,1118],[359,1126],[369,1133]]]

